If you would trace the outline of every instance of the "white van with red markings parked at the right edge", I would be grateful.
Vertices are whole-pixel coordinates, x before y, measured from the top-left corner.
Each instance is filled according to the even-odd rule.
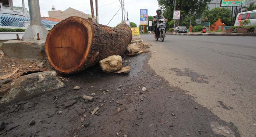
[[[256,25],[256,10],[239,13],[235,19],[235,26],[241,26],[240,22],[246,19],[250,20],[248,25]]]

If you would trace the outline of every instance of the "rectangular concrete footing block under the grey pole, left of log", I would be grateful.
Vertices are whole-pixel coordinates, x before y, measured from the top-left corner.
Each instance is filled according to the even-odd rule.
[[[4,57],[45,59],[45,40],[9,40],[2,45]]]

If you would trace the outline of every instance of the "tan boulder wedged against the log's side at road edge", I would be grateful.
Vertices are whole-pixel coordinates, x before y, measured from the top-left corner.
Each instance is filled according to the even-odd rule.
[[[122,57],[120,55],[109,56],[100,61],[100,67],[106,73],[119,71],[122,68]]]

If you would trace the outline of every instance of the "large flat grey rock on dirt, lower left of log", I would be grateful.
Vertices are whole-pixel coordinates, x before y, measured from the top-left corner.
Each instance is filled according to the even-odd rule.
[[[55,71],[45,71],[19,77],[0,100],[0,104],[27,100],[63,88],[64,83],[56,75]]]

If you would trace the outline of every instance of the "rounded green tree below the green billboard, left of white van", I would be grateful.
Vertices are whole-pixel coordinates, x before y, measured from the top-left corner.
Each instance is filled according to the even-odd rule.
[[[230,25],[231,10],[228,8],[214,8],[209,12],[209,21],[214,24],[219,18],[225,25]]]

